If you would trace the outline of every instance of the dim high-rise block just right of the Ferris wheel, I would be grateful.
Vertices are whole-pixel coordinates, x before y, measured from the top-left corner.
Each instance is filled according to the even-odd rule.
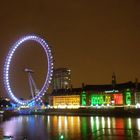
[[[71,88],[71,70],[67,68],[54,69],[52,87],[53,90]]]

